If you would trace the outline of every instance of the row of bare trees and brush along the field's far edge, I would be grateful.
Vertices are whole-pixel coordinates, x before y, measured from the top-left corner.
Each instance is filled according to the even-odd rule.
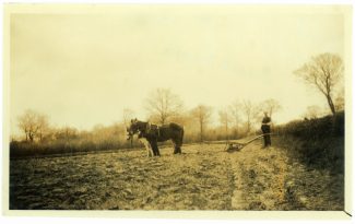
[[[171,121],[181,123],[186,129],[186,139],[190,142],[241,138],[258,129],[262,111],[268,111],[272,116],[281,109],[281,105],[275,99],[267,99],[260,104],[253,104],[250,101],[234,101],[227,107],[217,110],[218,123],[213,123],[215,108],[200,104],[194,108],[184,109],[180,97],[168,89],[153,91],[144,102],[146,103],[145,108],[150,122],[157,125]],[[130,120],[133,118],[135,118],[135,113],[126,108],[122,111],[120,122],[108,127],[98,125],[91,131],[79,131],[73,127],[56,128],[50,125],[47,115],[32,109],[24,111],[17,121],[23,133],[23,141],[48,142],[82,138],[88,133],[97,135],[99,130],[103,129],[117,129],[116,131],[108,131],[108,133],[125,135],[126,127],[130,125]],[[216,135],[216,138],[213,135]]]

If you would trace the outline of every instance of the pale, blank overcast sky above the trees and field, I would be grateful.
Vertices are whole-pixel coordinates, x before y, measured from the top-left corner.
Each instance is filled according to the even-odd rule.
[[[145,118],[144,98],[170,89],[187,109],[235,99],[280,102],[274,120],[326,101],[293,71],[311,56],[344,56],[344,17],[322,10],[121,7],[110,13],[11,16],[11,132],[31,108],[90,129]]]

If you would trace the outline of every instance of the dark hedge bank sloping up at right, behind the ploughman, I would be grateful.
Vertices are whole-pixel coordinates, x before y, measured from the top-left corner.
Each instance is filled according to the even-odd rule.
[[[274,128],[298,158],[309,166],[344,169],[344,111],[336,117],[297,120]]]

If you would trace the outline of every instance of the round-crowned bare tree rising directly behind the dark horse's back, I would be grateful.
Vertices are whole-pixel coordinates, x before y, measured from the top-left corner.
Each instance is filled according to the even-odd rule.
[[[182,110],[182,101],[168,89],[157,89],[146,99],[146,110],[161,125]]]

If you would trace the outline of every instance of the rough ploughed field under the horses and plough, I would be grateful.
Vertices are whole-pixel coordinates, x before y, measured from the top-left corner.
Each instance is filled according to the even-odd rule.
[[[343,210],[343,176],[256,141],[10,162],[12,210]]]

